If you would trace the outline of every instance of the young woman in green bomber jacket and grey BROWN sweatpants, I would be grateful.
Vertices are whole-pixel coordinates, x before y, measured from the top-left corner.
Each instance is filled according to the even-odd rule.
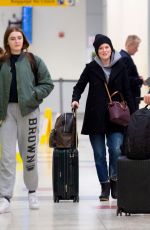
[[[18,27],[4,34],[4,52],[0,57],[0,213],[9,212],[16,170],[16,142],[23,160],[23,178],[28,190],[29,207],[38,209],[37,146],[39,105],[53,90],[48,68],[35,56],[36,84],[27,57],[27,41]]]

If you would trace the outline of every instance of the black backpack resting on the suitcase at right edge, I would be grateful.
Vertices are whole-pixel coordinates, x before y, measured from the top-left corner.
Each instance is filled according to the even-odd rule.
[[[131,115],[124,148],[125,155],[130,159],[150,159],[150,110],[148,106]]]

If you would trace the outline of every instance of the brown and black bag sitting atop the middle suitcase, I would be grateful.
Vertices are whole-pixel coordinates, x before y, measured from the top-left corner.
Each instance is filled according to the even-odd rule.
[[[49,137],[51,148],[75,148],[77,146],[76,115],[62,113],[56,119]]]

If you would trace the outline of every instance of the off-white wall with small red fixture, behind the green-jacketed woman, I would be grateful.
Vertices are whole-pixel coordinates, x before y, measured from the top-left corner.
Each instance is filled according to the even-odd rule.
[[[12,14],[21,7],[0,7],[0,44]],[[58,33],[63,31],[64,38]],[[46,62],[53,79],[78,79],[86,62],[86,0],[72,7],[34,7],[31,50]]]

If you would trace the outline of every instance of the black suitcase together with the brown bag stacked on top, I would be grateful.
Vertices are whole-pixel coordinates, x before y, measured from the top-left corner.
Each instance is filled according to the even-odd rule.
[[[76,111],[61,114],[55,123],[50,143],[54,143],[52,179],[53,200],[79,201],[79,154]]]

